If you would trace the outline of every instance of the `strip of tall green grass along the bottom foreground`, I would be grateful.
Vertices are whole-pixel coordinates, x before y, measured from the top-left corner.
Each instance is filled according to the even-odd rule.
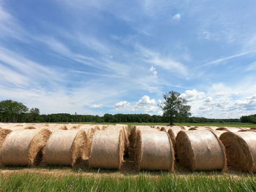
[[[216,177],[192,174],[180,177],[84,177],[79,174],[53,176],[47,174],[0,174],[0,191],[256,191],[256,177]]]

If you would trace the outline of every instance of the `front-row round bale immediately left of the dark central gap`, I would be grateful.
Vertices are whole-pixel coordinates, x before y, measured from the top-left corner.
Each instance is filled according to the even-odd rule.
[[[97,131],[91,142],[89,166],[121,169],[124,161],[124,131]]]

